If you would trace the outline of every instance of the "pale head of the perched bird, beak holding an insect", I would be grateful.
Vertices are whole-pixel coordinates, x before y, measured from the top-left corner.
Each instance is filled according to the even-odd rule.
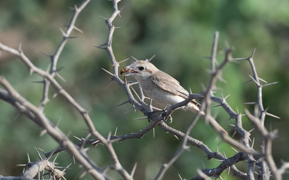
[[[125,76],[148,77],[155,70],[158,69],[150,62],[139,60],[131,65],[123,67],[123,69],[121,69],[121,75],[129,72]]]

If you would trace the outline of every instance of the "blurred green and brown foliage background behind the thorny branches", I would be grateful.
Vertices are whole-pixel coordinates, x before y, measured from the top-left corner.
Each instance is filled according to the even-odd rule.
[[[58,47],[62,34],[59,27],[65,30],[63,24],[68,24],[72,16],[69,6],[80,5],[82,1],[36,1],[11,0],[0,1],[0,42],[17,49],[22,43],[25,55],[37,67],[45,70],[50,60],[39,52],[53,54]],[[121,61],[130,56],[138,60],[145,60],[156,54],[151,61],[160,70],[175,77],[181,85],[200,93],[201,84],[208,84],[212,39],[215,31],[220,32],[218,43],[218,62],[224,59],[223,49],[225,42],[235,48],[234,58],[246,58],[256,48],[253,57],[260,78],[268,83],[278,81],[273,86],[263,89],[264,107],[270,106],[269,113],[281,119],[266,117],[265,126],[268,129],[278,129],[279,138],[273,143],[273,156],[278,167],[281,159],[289,161],[289,131],[288,131],[288,80],[289,80],[289,3],[283,1],[252,1],[252,0],[223,0],[223,1],[136,1],[128,0],[118,3],[123,7],[121,17],[117,16],[113,24],[121,28],[114,31],[112,48],[116,60]],[[58,68],[65,66],[60,75],[66,83],[56,79],[69,94],[84,108],[90,110],[90,117],[96,129],[108,135],[110,131],[118,131],[116,135],[138,132],[149,123],[147,120],[132,120],[144,115],[138,111],[129,111],[131,105],[114,106],[127,100],[120,86],[113,82],[103,90],[110,76],[101,68],[112,71],[112,66],[105,50],[97,49],[106,42],[108,29],[104,20],[112,14],[112,3],[101,0],[92,0],[79,15],[76,26],[84,34],[73,32],[78,36],[70,39],[66,44],[58,61]],[[124,62],[121,67],[133,62],[132,58]],[[120,67],[120,68],[121,68]],[[2,51],[0,58],[0,74],[4,75],[12,86],[25,98],[38,106],[42,98],[42,84],[39,75],[29,75],[29,71],[15,56]],[[253,82],[241,85],[252,75],[247,61],[229,63],[224,71],[223,78],[227,81],[217,82],[219,87],[215,96],[229,96],[227,102],[236,111],[244,112],[244,108],[253,110],[252,105],[243,105],[245,102],[257,100],[256,86]],[[131,80],[133,80],[131,78]],[[137,86],[136,86],[137,87]],[[77,143],[77,137],[86,137],[86,125],[81,115],[71,105],[65,102],[60,95],[52,98],[53,88],[50,88],[49,99],[45,107],[46,116],[54,123],[61,117],[59,127],[70,139]],[[213,104],[216,105],[216,104]],[[41,128],[24,115],[14,119],[18,112],[10,104],[0,101],[0,175],[17,176],[22,173],[22,167],[16,164],[27,162],[27,153],[30,159],[39,159],[35,147],[48,152],[57,147],[57,143],[47,134],[40,137]],[[229,115],[221,107],[212,109],[216,119],[229,132],[234,133],[233,127],[227,125]],[[173,122],[169,126],[185,131],[192,121],[194,114],[188,111],[177,110],[173,113]],[[246,117],[243,117],[243,127],[252,129]],[[231,120],[234,124],[234,120]],[[234,155],[230,146],[223,143],[210,126],[200,120],[193,128],[192,137],[203,141],[212,151],[216,146],[227,157]],[[256,130],[255,149],[260,149],[260,137]],[[91,137],[94,138],[94,137]],[[234,138],[238,140],[237,133]],[[159,127],[147,133],[142,139],[129,139],[121,143],[114,143],[115,151],[124,168],[130,171],[137,162],[135,179],[153,179],[160,166],[171,158],[179,145],[173,135],[167,134]],[[91,146],[88,150],[90,157],[101,166],[110,164],[110,157],[105,147]],[[205,153],[197,147],[191,147],[184,152],[166,173],[164,179],[192,178],[196,169],[202,168],[202,161],[206,168],[215,168],[220,164],[216,160],[202,158]],[[63,152],[57,162],[60,166],[67,166],[72,158]],[[236,165],[246,172],[247,164],[240,162]],[[72,170],[66,170],[66,179],[77,178],[81,173],[78,164],[72,165]],[[223,179],[238,179],[232,177],[228,171],[221,176]],[[120,178],[115,171],[109,175]],[[284,179],[288,179],[284,175]],[[83,179],[92,179],[90,175]]]

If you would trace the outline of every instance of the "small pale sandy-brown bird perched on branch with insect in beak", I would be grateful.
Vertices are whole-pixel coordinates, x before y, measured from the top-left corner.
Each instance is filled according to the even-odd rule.
[[[129,73],[125,74],[126,72]],[[188,91],[175,78],[159,70],[148,61],[138,60],[125,66],[121,69],[120,74],[125,75],[125,77],[133,76],[143,92],[158,104],[170,106],[189,97]],[[194,99],[188,105],[181,107],[181,109],[190,110],[194,113],[198,113],[200,108],[201,105]],[[200,111],[200,113],[205,115],[204,111]],[[216,121],[214,123],[228,135],[228,132]]]

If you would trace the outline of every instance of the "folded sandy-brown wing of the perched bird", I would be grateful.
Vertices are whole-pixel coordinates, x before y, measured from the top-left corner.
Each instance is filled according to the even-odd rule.
[[[171,92],[177,96],[182,96],[184,98],[189,97],[189,93],[187,90],[185,90],[179,82],[171,77],[170,75],[164,73],[164,72],[159,72],[157,75],[152,76],[152,81],[157,84],[160,88]],[[194,99],[192,100],[194,104],[197,104],[198,107],[201,105],[197,103]]]

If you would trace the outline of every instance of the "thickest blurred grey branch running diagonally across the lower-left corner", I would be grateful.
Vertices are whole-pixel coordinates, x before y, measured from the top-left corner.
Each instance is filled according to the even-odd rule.
[[[95,179],[111,179],[109,176],[103,175],[103,170],[99,168],[92,160],[90,160],[86,152],[75,146],[75,144],[70,141],[57,126],[52,124],[52,122],[47,119],[47,117],[39,110],[38,107],[34,106],[24,97],[18,94],[18,92],[14,90],[14,88],[3,76],[0,77],[0,84],[5,88],[5,90],[0,89],[0,98],[16,107],[20,113],[26,115],[40,127],[45,129],[63,149],[74,156],[77,162],[84,166],[85,170],[89,171],[92,177]]]

